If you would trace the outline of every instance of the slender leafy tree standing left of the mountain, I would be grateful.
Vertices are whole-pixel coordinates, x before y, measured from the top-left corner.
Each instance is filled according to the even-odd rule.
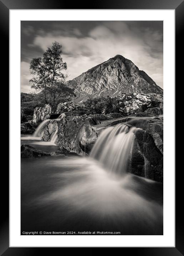
[[[30,62],[33,75],[30,79],[31,88],[40,91],[35,94],[35,99],[52,106],[62,97],[74,95],[73,90],[65,85],[67,74],[63,74],[62,70],[67,69],[67,64],[61,58],[61,48],[55,41],[51,48],[47,48],[43,58],[33,58]]]

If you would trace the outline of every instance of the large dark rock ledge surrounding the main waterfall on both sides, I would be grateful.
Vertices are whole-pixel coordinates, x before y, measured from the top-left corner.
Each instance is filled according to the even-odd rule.
[[[142,113],[144,114],[144,113]],[[147,113],[145,113],[147,115]],[[163,181],[163,120],[153,117],[119,117],[107,115],[75,116],[66,112],[58,122],[57,146],[60,151],[89,154],[101,132],[107,127],[124,123],[137,130],[129,172]]]

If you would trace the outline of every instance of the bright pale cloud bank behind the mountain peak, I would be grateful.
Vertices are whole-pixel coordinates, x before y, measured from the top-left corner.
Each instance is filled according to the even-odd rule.
[[[163,87],[163,35],[159,31],[130,28],[123,22],[114,24],[107,21],[92,28],[86,36],[82,36],[77,28],[70,30],[75,31],[76,35],[41,33],[35,36],[31,45],[43,52],[53,41],[62,44],[63,61],[67,63],[70,75],[68,79],[120,54],[132,60]]]

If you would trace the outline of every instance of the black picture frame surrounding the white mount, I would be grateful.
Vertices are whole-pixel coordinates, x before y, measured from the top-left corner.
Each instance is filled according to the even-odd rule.
[[[71,8],[72,6],[72,8]],[[9,10],[10,9],[175,9],[175,84],[179,87],[182,86],[183,65],[180,64],[180,60],[183,58],[183,42],[182,28],[184,25],[184,1],[182,0],[93,0],[84,5],[81,1],[69,3],[62,0],[0,0],[0,34],[1,34],[1,50],[4,54],[4,61],[1,61],[1,72],[5,77],[4,87],[5,93],[8,95],[8,78],[9,78]],[[1,55],[2,56],[2,55]],[[178,90],[178,91],[177,91]],[[179,92],[179,88],[176,87],[175,93]],[[178,96],[179,101],[182,97]],[[8,104],[7,104],[8,105]],[[6,113],[8,113],[8,107],[6,107]],[[177,110],[177,107],[176,107]],[[176,111],[176,119],[178,117]],[[174,117],[172,122],[174,122]],[[10,121],[11,125],[11,121]],[[6,128],[7,129],[7,128]],[[5,144],[8,145],[7,138],[5,138]],[[8,151],[6,151],[4,160],[8,158]],[[177,160],[179,160],[179,154],[177,154]],[[7,159],[8,162],[8,159]],[[178,161],[176,161],[178,162]],[[184,255],[184,233],[183,233],[183,211],[181,195],[183,195],[183,180],[181,178],[182,167],[176,172],[176,221],[175,221],[175,247],[121,247],[122,253],[132,253],[133,255],[171,255],[180,256]],[[0,229],[0,255],[37,255],[44,253],[52,253],[52,255],[58,255],[62,253],[63,248],[38,248],[38,247],[9,247],[9,171],[4,169],[1,171],[1,184],[4,184],[1,192],[1,229]],[[52,251],[51,251],[52,250]],[[56,250],[58,252],[56,252]],[[128,251],[128,252],[127,252]]]

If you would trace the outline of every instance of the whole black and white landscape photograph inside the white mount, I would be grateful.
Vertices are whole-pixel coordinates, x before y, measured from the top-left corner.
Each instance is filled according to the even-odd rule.
[[[21,235],[163,235],[163,21],[21,21]]]

